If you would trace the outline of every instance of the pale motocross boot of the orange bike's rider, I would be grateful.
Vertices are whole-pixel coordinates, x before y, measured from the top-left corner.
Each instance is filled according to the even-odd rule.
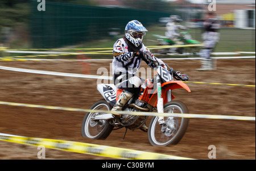
[[[119,95],[119,99],[117,103],[115,103],[111,111],[121,111],[122,107],[125,106],[125,104],[130,100],[131,97],[133,97],[133,94],[123,90],[122,93]],[[115,118],[121,117],[121,114],[112,114],[112,115],[114,115]]]

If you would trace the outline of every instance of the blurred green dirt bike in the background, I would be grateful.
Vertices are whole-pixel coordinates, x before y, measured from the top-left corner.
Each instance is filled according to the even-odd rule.
[[[200,44],[200,41],[193,40],[191,35],[189,34],[189,31],[181,31],[180,36],[177,37],[177,41],[171,40],[167,36],[162,36],[162,35],[153,35],[156,38],[158,38],[159,44],[158,45],[187,45],[187,44]],[[197,55],[199,52],[198,47],[179,47],[179,48],[174,48],[174,51],[179,54],[183,53],[188,53],[189,55]],[[166,49],[156,49],[154,51],[155,53],[160,53],[160,54],[167,54],[170,52],[170,48]]]

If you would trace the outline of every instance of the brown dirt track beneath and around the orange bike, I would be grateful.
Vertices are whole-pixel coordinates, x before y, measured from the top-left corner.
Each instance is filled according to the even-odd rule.
[[[187,73],[189,81],[255,85],[255,59],[218,60],[217,70],[199,72],[199,60],[169,60],[175,70]],[[69,61],[0,61],[1,66],[82,74],[82,65]],[[143,65],[145,66],[145,65]],[[90,74],[109,62],[92,62]],[[191,114],[255,116],[255,87],[187,84],[174,91]],[[89,109],[101,99],[96,80],[0,70],[0,101]],[[83,112],[0,105],[0,132],[29,137],[81,141],[167,155],[208,159],[208,146],[215,145],[217,159],[255,160],[255,122],[242,120],[190,119],[179,144],[152,147],[141,130],[113,131],[106,140],[81,137]],[[150,119],[148,119],[148,122]],[[139,137],[139,139],[138,139]],[[0,141],[0,159],[38,159],[34,146]],[[109,159],[47,149],[46,159]]]

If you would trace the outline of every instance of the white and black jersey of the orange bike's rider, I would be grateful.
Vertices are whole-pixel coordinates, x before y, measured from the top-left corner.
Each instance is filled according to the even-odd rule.
[[[124,38],[118,39],[114,43],[113,48],[114,48],[113,50],[114,59],[112,61],[113,75],[115,73],[129,73],[129,74],[135,75],[135,73],[139,70],[139,67],[141,66],[142,59],[137,56],[133,57],[134,52],[129,52],[128,44],[126,43]],[[153,56],[150,50],[147,47],[145,47],[143,43],[139,51],[143,51],[143,52],[148,51],[150,55],[159,62],[159,64],[163,63],[162,60],[159,60],[155,56]],[[152,66],[147,61],[145,62],[152,68]]]

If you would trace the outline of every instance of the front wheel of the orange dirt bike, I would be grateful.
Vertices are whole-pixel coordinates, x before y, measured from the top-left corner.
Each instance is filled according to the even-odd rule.
[[[165,113],[187,114],[188,108],[183,102],[173,101],[164,105]],[[188,127],[188,118],[164,117],[165,124],[158,123],[158,116],[154,116],[148,128],[148,140],[154,146],[174,145],[184,136]]]

